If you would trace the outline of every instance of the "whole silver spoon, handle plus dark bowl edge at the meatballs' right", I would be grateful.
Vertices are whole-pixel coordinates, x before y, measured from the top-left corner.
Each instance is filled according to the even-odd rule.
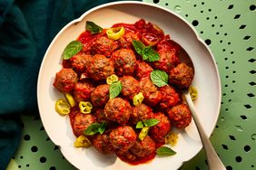
[[[194,71],[192,60],[191,60],[190,56],[188,55],[188,53],[185,52],[185,50],[182,48],[182,46],[179,45],[177,42],[174,42],[174,43],[176,43],[178,46],[181,47],[181,50],[179,52],[180,60],[182,62],[185,62],[188,66],[192,67],[192,70]],[[215,152],[211,141],[206,136],[206,134],[203,130],[202,124],[200,123],[200,120],[199,120],[199,118],[196,114],[196,110],[194,108],[189,90],[188,89],[182,90],[182,94],[184,95],[184,97],[187,101],[187,104],[188,104],[189,108],[191,109],[192,118],[194,120],[194,123],[195,123],[195,125],[198,129],[199,135],[201,137],[202,146],[204,147],[204,152],[205,152],[206,157],[207,157],[209,169],[210,170],[225,170],[226,167],[223,165],[222,160],[220,159],[220,157]]]

